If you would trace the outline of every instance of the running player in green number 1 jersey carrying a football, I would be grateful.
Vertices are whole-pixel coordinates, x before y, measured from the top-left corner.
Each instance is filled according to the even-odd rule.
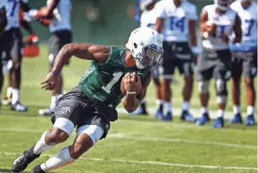
[[[79,86],[57,101],[53,112],[54,127],[44,132],[37,144],[13,162],[14,172],[23,171],[42,152],[66,141],[77,127],[74,143],[37,165],[32,173],[44,173],[71,164],[107,135],[110,121],[118,119],[115,107],[121,103],[122,97],[127,111],[137,109],[151,82],[151,71],[157,68],[162,57],[162,37],[154,29],[138,28],[132,31],[126,47],[91,44],[62,47],[53,70],[41,83],[42,88],[54,89],[62,67],[71,56],[91,60],[91,65]],[[126,91],[124,95],[121,94],[121,81]]]

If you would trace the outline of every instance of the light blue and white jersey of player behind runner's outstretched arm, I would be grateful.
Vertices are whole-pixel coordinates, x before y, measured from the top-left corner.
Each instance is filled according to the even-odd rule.
[[[49,5],[53,0],[47,0]],[[60,0],[54,9],[54,20],[50,22],[49,30],[54,32],[57,30],[71,30],[71,0]]]

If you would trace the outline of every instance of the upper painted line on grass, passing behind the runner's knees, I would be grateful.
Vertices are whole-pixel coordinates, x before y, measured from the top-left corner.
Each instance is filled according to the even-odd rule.
[[[19,129],[19,128],[0,128],[0,132],[27,132],[27,133],[43,133],[44,130],[35,130],[35,129]],[[75,133],[72,133],[74,136]],[[39,136],[38,136],[39,137]],[[122,138],[122,139],[132,139],[138,141],[158,141],[158,142],[168,142],[168,143],[187,143],[187,144],[207,144],[207,145],[221,145],[229,147],[239,147],[239,148],[249,148],[257,149],[256,145],[252,144],[230,144],[230,143],[220,143],[213,141],[197,141],[197,140],[188,140],[188,139],[179,139],[179,138],[162,138],[162,137],[151,137],[151,136],[129,136],[123,133],[108,134],[107,138]]]

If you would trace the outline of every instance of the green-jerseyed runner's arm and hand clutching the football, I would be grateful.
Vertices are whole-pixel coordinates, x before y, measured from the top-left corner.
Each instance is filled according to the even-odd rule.
[[[127,74],[123,78],[125,87],[131,86],[130,87],[131,90],[128,91],[128,92],[135,92],[137,90],[136,89],[137,82],[140,82],[140,80],[136,81],[136,78],[139,78],[139,77],[137,77],[137,74],[135,72],[132,74],[132,77],[130,77],[130,75]],[[127,94],[124,97],[123,106],[126,109],[126,111],[133,112],[133,111],[137,110],[137,107],[140,105],[140,103],[142,102],[142,100],[146,96],[147,86],[149,86],[151,80],[152,80],[152,74],[149,73],[148,76],[143,81],[143,84],[142,84],[142,87],[141,87],[141,91],[140,91],[140,93],[138,95]]]

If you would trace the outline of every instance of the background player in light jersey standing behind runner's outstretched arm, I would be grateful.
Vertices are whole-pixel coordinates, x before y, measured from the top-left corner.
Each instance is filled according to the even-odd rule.
[[[26,15],[28,21],[49,19],[50,37],[48,41],[49,70],[54,66],[54,58],[63,45],[71,43],[71,0],[47,0],[46,6],[39,10],[30,10]],[[68,64],[69,62],[67,62]],[[66,65],[67,65],[66,64]],[[62,95],[62,74],[58,76],[58,82],[52,91],[50,107],[39,110],[40,115],[50,115],[54,109],[56,98]]]

